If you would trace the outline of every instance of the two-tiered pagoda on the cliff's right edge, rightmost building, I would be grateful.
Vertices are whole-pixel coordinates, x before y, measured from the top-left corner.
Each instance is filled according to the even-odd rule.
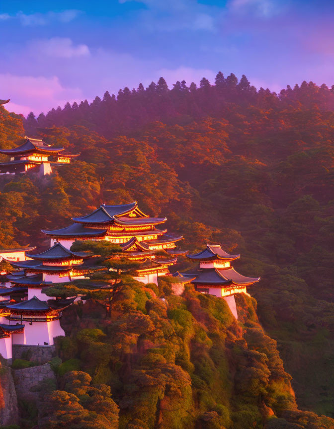
[[[197,270],[181,273],[184,277],[191,278],[195,290],[201,293],[224,298],[236,318],[238,318],[234,295],[247,293],[247,286],[260,280],[239,274],[231,262],[240,258],[240,255],[231,255],[225,252],[221,246],[207,244],[206,248],[194,255],[187,255],[192,261],[198,261]]]

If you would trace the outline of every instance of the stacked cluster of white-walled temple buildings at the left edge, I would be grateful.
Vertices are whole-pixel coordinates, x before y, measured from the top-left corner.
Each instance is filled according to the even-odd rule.
[[[11,358],[11,344],[53,345],[55,337],[65,335],[59,319],[62,310],[71,305],[75,297],[45,300],[46,295],[42,290],[53,284],[83,279],[94,271],[106,269],[94,265],[93,259],[90,254],[72,252],[60,243],[55,243],[42,253],[26,253],[25,259],[6,261],[16,271],[1,275],[2,285],[5,285],[0,287],[2,357]]]

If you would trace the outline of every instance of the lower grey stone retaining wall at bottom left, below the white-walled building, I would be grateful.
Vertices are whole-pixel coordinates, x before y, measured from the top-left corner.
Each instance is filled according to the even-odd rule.
[[[19,399],[37,399],[38,393],[31,392],[30,389],[46,378],[56,380],[50,363],[24,369],[12,369],[12,374]]]

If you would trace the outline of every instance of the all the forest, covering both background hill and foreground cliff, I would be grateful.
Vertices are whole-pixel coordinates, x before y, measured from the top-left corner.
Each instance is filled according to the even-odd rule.
[[[40,428],[333,427],[334,87],[276,94],[219,72],[26,119],[0,106],[1,148],[25,134],[81,155],[43,179],[0,176],[2,248],[47,247],[40,229],[136,200],[167,216],[184,249],[221,243],[242,254],[238,271],[261,276],[254,299],[238,298],[238,324],[222,300],[175,297],[167,281],[129,279],[108,314],[98,299],[69,310]],[[83,426],[61,420],[64,401]]]

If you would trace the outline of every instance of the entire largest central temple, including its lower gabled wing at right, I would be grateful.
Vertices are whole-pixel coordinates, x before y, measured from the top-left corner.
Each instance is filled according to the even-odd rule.
[[[167,233],[158,228],[166,217],[150,217],[143,213],[137,202],[115,206],[101,205],[90,214],[73,217],[72,225],[53,231],[42,230],[51,238],[51,244],[61,243],[70,249],[76,240],[107,240],[119,244],[125,257],[140,263],[136,280],[144,283],[158,283],[159,276],[169,274],[169,267],[177,261],[176,255],[184,251],[176,249],[176,242],[182,236]],[[166,256],[156,256],[157,252]]]

